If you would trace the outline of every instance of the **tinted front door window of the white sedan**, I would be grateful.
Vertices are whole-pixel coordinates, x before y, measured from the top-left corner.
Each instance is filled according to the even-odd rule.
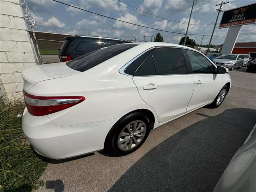
[[[213,73],[215,71],[212,63],[202,54],[191,50],[186,51],[192,65],[193,73]]]

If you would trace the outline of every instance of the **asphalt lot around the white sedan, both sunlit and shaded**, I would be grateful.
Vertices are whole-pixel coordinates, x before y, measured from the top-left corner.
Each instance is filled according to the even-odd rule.
[[[200,108],[153,130],[130,155],[44,159],[38,192],[211,192],[256,123],[256,74],[229,74],[232,87],[219,108]]]

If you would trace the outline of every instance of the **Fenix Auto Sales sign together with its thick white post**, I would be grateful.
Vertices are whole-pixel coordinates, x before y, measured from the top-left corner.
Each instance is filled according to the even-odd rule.
[[[229,27],[229,29],[221,53],[232,53],[242,25],[256,22],[255,10],[256,3],[253,3],[223,12],[219,28]]]

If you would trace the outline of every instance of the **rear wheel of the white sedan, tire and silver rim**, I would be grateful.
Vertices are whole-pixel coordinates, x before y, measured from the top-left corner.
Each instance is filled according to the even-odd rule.
[[[104,150],[113,156],[136,151],[148,137],[150,125],[150,118],[144,112],[132,112],[122,117],[108,133]]]

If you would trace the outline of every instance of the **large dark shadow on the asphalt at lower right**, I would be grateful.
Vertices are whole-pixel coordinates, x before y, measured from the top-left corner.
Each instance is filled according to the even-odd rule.
[[[158,144],[108,191],[212,192],[252,130],[256,110],[233,108],[216,116],[196,114],[205,119]]]

